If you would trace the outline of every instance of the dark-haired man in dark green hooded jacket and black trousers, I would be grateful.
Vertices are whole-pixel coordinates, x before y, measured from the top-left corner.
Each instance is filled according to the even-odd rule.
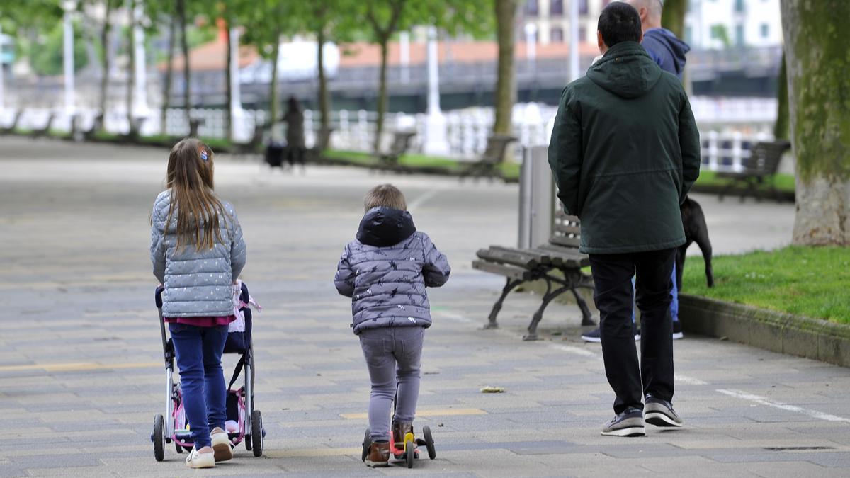
[[[682,83],[649,58],[642,37],[630,5],[603,10],[604,57],[564,88],[549,145],[558,198],[581,219],[616,394],[603,435],[643,435],[644,412],[650,424],[682,425],[671,403],[671,275],[685,242],[679,204],[700,174],[700,135]],[[636,273],[643,370],[632,334]]]

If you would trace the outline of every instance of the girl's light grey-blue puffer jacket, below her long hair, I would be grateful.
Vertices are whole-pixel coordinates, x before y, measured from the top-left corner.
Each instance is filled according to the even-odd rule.
[[[222,202],[227,214],[218,214],[219,232],[224,243],[198,251],[187,244],[178,251],[177,209],[168,225],[171,192],[156,196],[151,213],[150,261],[154,276],[165,285],[162,294],[162,316],[222,317],[233,315],[233,281],[245,266],[245,241],[236,212]],[[229,215],[229,217],[228,217]]]

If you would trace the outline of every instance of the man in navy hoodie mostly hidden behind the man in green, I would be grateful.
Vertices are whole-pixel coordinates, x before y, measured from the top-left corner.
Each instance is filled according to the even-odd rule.
[[[685,54],[690,51],[687,43],[676,37],[676,34],[666,28],[661,28],[661,14],[663,13],[664,5],[660,0],[626,0],[626,3],[632,5],[638,10],[638,15],[641,20],[641,30],[643,31],[643,41],[641,46],[646,49],[649,58],[655,61],[661,67],[661,70],[668,71],[682,79],[685,62]],[[601,57],[597,57],[601,60]],[[594,63],[597,60],[594,60]],[[673,339],[682,339],[684,333],[682,331],[682,323],[679,322],[679,291],[677,289],[677,271],[676,265],[673,265],[673,290],[672,300],[670,302],[670,315],[673,319]],[[632,311],[632,322],[635,315]],[[640,339],[640,330],[634,327],[635,339]],[[582,333],[581,339],[587,342],[599,342],[599,328]]]

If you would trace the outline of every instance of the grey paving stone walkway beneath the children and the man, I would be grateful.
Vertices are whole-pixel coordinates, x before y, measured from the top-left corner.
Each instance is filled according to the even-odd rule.
[[[515,242],[517,188],[348,168],[269,172],[217,162],[248,246],[243,278],[255,320],[257,407],[265,454],[207,472],[149,440],[165,375],[148,259],[149,214],[166,153],[156,149],[0,139],[0,476],[456,475],[847,476],[850,372],[717,339],[675,345],[683,430],[598,433],[612,414],[598,344],[580,313],[553,304],[544,340],[520,337],[538,298],[515,293],[501,328],[483,330],[501,280],[471,270],[474,251]],[[360,440],[369,384],[331,284],[354,236],[361,198],[393,181],[416,225],[449,256],[431,292],[416,425],[438,458],[366,469]],[[697,196],[717,252],[775,247],[793,207]],[[225,358],[229,375],[235,360]],[[481,394],[486,385],[502,394]]]

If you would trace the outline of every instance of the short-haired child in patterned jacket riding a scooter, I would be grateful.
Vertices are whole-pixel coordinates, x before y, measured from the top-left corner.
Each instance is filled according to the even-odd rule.
[[[413,430],[422,342],[431,327],[425,287],[445,284],[451,268],[428,235],[416,230],[405,196],[393,185],[373,188],[364,206],[357,239],[345,247],[333,282],[352,298],[351,327],[371,378],[365,464],[378,467],[388,465],[390,430],[397,447]]]

